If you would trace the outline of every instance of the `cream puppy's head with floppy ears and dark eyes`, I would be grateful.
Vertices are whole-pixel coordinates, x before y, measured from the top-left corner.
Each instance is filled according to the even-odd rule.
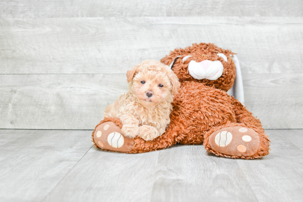
[[[127,72],[130,92],[144,107],[171,103],[180,87],[177,76],[167,65],[147,60]]]

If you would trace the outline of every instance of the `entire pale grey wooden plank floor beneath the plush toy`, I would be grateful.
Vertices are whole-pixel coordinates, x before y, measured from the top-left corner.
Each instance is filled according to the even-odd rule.
[[[0,130],[0,201],[302,201],[303,129],[266,130],[271,152],[217,157],[203,145],[144,154],[92,147],[91,130]]]

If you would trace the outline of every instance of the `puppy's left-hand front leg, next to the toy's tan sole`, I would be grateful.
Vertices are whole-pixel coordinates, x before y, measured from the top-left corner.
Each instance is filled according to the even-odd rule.
[[[123,124],[121,132],[125,137],[134,138],[139,134],[139,120],[131,115],[120,116]]]

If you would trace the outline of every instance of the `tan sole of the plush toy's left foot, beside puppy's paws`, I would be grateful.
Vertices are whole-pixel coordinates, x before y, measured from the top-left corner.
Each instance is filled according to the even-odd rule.
[[[94,141],[101,149],[117,152],[130,152],[134,145],[134,139],[124,137],[121,128],[111,121],[104,122],[96,128]]]

